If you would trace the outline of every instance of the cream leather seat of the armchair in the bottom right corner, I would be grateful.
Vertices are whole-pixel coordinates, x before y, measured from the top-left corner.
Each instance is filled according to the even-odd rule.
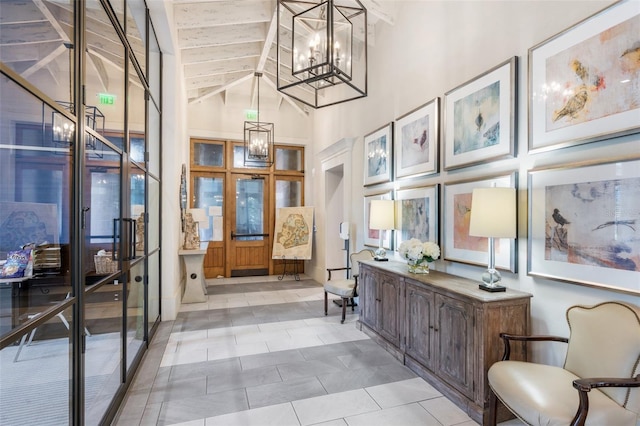
[[[531,425],[567,425],[580,400],[573,381],[579,377],[561,367],[522,361],[499,361],[488,372],[489,386],[519,418]],[[638,416],[597,389],[589,392],[587,425],[635,425]]]

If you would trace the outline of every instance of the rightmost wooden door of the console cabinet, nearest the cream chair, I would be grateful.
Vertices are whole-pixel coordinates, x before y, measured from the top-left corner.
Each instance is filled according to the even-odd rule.
[[[473,306],[442,294],[436,294],[435,306],[435,368],[444,381],[473,398]]]

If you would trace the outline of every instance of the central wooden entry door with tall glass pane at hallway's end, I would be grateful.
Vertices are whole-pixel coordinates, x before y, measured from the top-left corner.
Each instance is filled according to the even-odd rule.
[[[269,176],[232,173],[227,186],[227,274],[269,274]]]

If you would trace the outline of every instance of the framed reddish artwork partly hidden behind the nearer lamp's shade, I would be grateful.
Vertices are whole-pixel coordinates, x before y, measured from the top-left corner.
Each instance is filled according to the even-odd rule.
[[[443,213],[443,258],[454,262],[486,266],[489,259],[489,242],[484,237],[469,235],[471,218],[471,194],[474,188],[517,188],[518,173],[466,180],[445,184]],[[497,269],[518,272],[518,239],[497,238],[495,265]]]

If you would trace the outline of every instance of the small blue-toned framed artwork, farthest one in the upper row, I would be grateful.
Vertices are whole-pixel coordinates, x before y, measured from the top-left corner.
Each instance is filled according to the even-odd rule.
[[[364,184],[389,182],[393,164],[393,123],[364,137]]]

